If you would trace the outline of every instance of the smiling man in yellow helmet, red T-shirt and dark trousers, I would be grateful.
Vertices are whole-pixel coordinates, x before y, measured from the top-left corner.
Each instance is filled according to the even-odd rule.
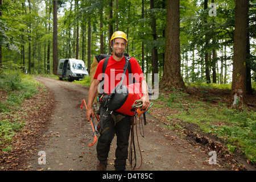
[[[119,73],[123,72],[123,67],[125,65],[125,57],[123,53],[125,52],[125,48],[127,46],[128,40],[127,36],[122,31],[114,32],[112,38],[110,39],[110,46],[112,48],[112,56],[109,57],[108,65],[105,70],[105,75],[107,75],[104,79],[104,92],[111,93],[114,87],[119,83],[120,80],[117,80],[116,77]],[[93,116],[94,113],[92,109],[93,100],[96,97],[97,86],[100,84],[102,77],[98,77],[102,74],[104,60],[101,60],[98,64],[96,73],[94,75],[94,79],[92,84],[90,85],[89,94],[88,94],[88,110],[87,110],[87,120],[90,120],[90,117]],[[131,72],[133,73],[135,80],[137,82],[141,82],[141,88],[143,96],[141,98],[143,102],[143,106],[141,109],[148,109],[150,107],[150,101],[148,99],[148,89],[147,82],[144,80],[143,73],[141,67],[138,64],[138,61],[131,57]],[[138,73],[138,74],[137,74]],[[110,76],[110,74],[114,74]],[[124,85],[129,84],[129,76],[126,72],[126,81],[123,81]],[[136,77],[139,75],[139,77]],[[142,76],[141,76],[142,75]],[[112,80],[110,80],[112,79]],[[114,82],[114,84],[113,84]],[[114,87],[113,87],[114,86]],[[101,104],[102,105],[102,104]],[[106,109],[104,107],[100,107],[100,115],[104,114]],[[115,117],[112,117],[112,115]],[[117,148],[115,150],[115,170],[122,171],[125,170],[126,159],[128,156],[128,146],[129,146],[129,135],[131,128],[131,117],[128,115],[123,115],[121,113],[113,112],[113,114],[109,114],[108,117],[101,117],[101,131],[100,137],[98,138],[97,143],[97,158],[99,160],[97,165],[97,170],[106,170],[108,154],[110,150],[110,144],[114,135],[117,136]],[[114,119],[113,119],[114,118]],[[118,119],[119,118],[119,119]]]

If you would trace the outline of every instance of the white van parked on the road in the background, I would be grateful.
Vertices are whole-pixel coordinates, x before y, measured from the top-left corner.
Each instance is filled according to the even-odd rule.
[[[57,76],[60,80],[68,78],[69,81],[81,80],[88,76],[84,61],[78,59],[60,59],[58,63]]]

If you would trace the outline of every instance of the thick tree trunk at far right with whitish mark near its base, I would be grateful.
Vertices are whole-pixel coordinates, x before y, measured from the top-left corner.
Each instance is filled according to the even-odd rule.
[[[236,109],[242,109],[246,96],[247,18],[248,1],[236,0],[231,105]]]

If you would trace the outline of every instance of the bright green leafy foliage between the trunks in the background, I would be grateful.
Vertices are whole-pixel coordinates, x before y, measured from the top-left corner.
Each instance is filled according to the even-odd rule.
[[[43,2],[43,1],[42,1]],[[118,5],[116,4],[118,2]],[[154,9],[150,7],[150,1],[144,2],[142,15],[142,1],[113,1],[110,7],[109,1],[88,0],[58,1],[58,57],[72,58],[76,55],[76,40],[79,40],[79,59],[83,59],[86,67],[90,47],[90,61],[95,55],[100,54],[100,35],[103,35],[103,53],[109,51],[109,25],[113,31],[122,30],[127,32],[129,46],[126,51],[134,56],[139,64],[143,64],[143,72],[150,73],[151,51],[153,47],[158,49],[159,78],[163,74],[165,39],[166,39],[166,7],[167,1],[154,1]],[[48,73],[46,64],[50,65],[52,72],[52,45],[53,28],[52,23],[52,1],[45,1],[45,15],[40,16],[40,1],[5,1],[2,5],[2,17],[0,18],[0,44],[3,48],[3,65],[14,63],[22,64],[24,72]],[[209,16],[210,1],[208,9],[204,10],[204,1],[180,0],[180,54],[181,54],[181,76],[185,82],[205,82],[205,53],[209,52],[209,67],[212,76],[215,60],[217,60],[218,81],[230,81],[230,65],[232,65],[232,48],[234,42],[234,9],[233,0],[216,0],[217,16]],[[72,4],[72,5],[71,5]],[[113,18],[109,18],[109,12],[113,10]],[[249,1],[249,35],[255,38],[255,3]],[[152,16],[156,19],[157,39],[152,38]],[[91,44],[88,46],[88,25],[91,23]],[[102,27],[100,27],[102,24]],[[79,27],[79,39],[76,39],[76,26]],[[209,45],[206,45],[209,40]],[[32,51],[29,51],[29,43]],[[142,43],[144,57],[142,57]],[[23,57],[24,63],[20,60]],[[250,42],[250,58],[252,77],[255,80],[255,42]],[[49,48],[49,49],[48,49]],[[217,50],[217,58],[213,59],[212,51]],[[48,52],[49,50],[49,52]],[[32,55],[28,55],[31,52]],[[48,58],[49,55],[49,58]],[[28,57],[31,57],[31,70],[28,70]],[[49,59],[49,63],[47,62]],[[143,60],[143,61],[142,61]],[[214,60],[214,61],[213,61]],[[45,62],[44,62],[45,61]],[[165,60],[167,61],[167,60]],[[44,62],[44,63],[43,63]],[[24,64],[24,65],[23,65]],[[225,68],[225,69],[224,69]],[[220,71],[222,69],[222,72]],[[225,72],[225,73],[224,73]]]

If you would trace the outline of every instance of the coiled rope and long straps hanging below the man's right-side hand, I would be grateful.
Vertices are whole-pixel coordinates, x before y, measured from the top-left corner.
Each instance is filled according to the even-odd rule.
[[[146,125],[146,113],[147,113],[148,109],[150,109],[150,107],[153,104],[151,103],[150,107],[148,107],[147,110],[142,110],[141,109],[142,105],[143,105],[142,100],[136,100],[134,102],[134,104],[132,105],[132,108],[135,112],[135,115],[134,115],[134,117],[132,118],[132,121],[131,121],[131,140],[130,140],[130,149],[129,149],[129,153],[130,153],[129,163],[130,163],[130,166],[131,166],[132,169],[139,169],[142,166],[142,153],[141,153],[141,148],[139,146],[139,139],[138,139],[137,117],[139,117],[139,131],[140,131],[142,137],[144,137],[144,130],[143,130],[143,124],[142,124],[142,114],[143,114],[143,118],[144,118],[144,125]],[[139,149],[139,154],[141,156],[141,164],[137,168],[136,168],[136,166],[137,166],[137,155],[136,155],[136,150],[135,150],[134,126],[135,126],[135,130],[136,130],[136,137],[137,137],[137,145],[138,145],[138,149]],[[142,127],[142,131],[141,131],[141,127]],[[133,161],[135,161],[134,164],[133,164]]]

